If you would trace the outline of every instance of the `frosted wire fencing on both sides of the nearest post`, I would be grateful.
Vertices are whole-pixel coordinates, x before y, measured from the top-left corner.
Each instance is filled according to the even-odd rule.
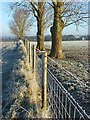
[[[40,76],[39,85],[41,91],[44,91],[43,87],[43,59],[42,55],[44,52],[36,49],[36,71]],[[49,60],[53,61],[51,58]],[[32,60],[33,61],[33,60]],[[48,64],[48,63],[45,63]],[[61,67],[62,68],[62,67]],[[68,75],[76,78],[72,73],[62,68]],[[80,107],[80,105],[75,101],[75,99],[70,95],[70,93],[64,88],[61,82],[54,76],[50,71],[49,67],[46,69],[47,74],[47,94],[46,102],[47,106],[50,107],[52,111],[53,118],[63,118],[63,119],[79,119],[79,120],[89,120],[90,117],[87,115],[85,110]],[[44,96],[43,96],[44,97]]]

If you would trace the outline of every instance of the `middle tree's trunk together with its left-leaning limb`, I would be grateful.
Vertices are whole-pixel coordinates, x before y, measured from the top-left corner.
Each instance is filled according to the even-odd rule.
[[[43,50],[45,2],[30,2],[30,4],[37,21],[37,48]]]

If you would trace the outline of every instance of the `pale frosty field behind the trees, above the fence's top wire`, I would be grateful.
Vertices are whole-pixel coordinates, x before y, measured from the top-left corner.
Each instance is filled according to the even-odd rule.
[[[32,42],[32,45],[33,44],[36,44],[36,42]],[[88,41],[63,41],[63,53],[65,54],[65,59],[55,60],[84,81],[89,79],[88,44]],[[49,54],[51,42],[45,42],[45,48]]]

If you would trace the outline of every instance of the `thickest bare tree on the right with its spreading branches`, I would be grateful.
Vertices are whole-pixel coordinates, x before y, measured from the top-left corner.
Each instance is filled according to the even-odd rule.
[[[62,52],[62,31],[65,27],[76,24],[82,25],[82,22],[86,22],[87,2],[75,2],[71,0],[69,2],[63,2],[62,0],[49,3],[54,10],[53,25],[51,27],[52,35],[52,48],[51,57],[64,58]]]

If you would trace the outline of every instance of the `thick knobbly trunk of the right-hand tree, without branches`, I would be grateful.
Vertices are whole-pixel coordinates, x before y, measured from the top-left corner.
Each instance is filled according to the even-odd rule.
[[[62,7],[59,3],[60,2],[54,5],[54,21],[51,27],[52,47],[50,53],[50,57],[58,59],[64,58],[62,53],[62,30],[64,28],[64,22],[61,17]]]

